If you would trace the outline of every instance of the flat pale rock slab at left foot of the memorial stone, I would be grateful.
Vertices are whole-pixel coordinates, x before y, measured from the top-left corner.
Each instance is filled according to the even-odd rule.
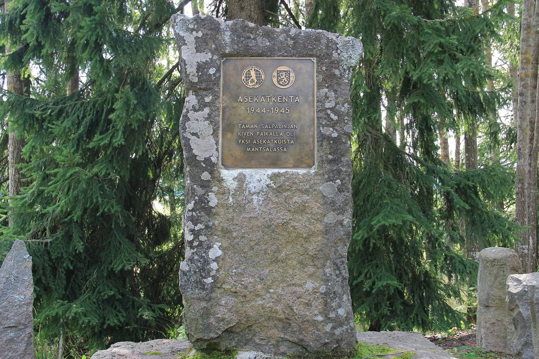
[[[91,359],[177,359],[192,349],[185,339],[156,339],[149,342],[119,342],[96,351]]]

